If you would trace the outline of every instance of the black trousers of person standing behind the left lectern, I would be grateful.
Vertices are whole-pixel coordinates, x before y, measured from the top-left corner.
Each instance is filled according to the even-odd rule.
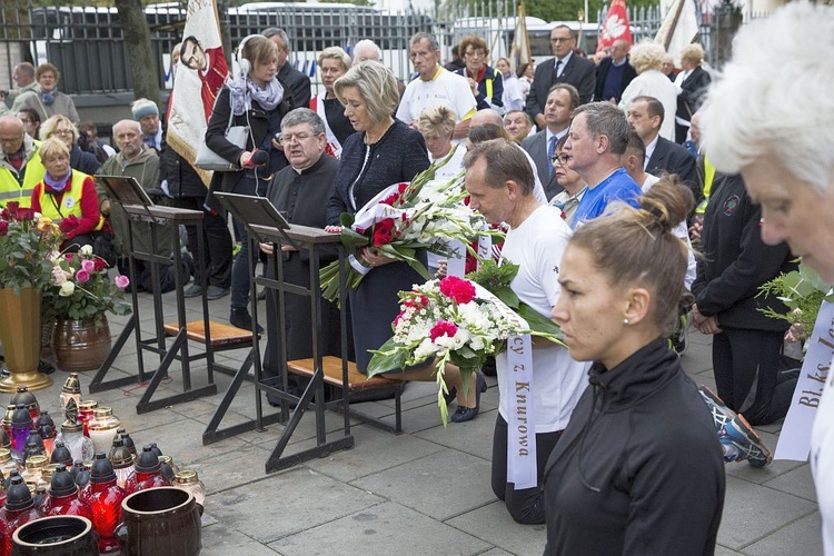
[[[200,284],[200,264],[197,252],[197,234],[202,234],[202,260],[206,265],[206,278],[209,286],[228,288],[231,285],[231,234],[222,217],[214,216],[206,211],[202,197],[179,197],[172,200],[177,208],[202,210],[202,229],[198,226],[186,226],[188,231],[188,252],[193,257],[195,284]]]

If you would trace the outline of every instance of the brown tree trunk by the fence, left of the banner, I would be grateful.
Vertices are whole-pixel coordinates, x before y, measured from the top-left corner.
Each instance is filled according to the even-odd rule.
[[[150,48],[150,29],[145,19],[141,0],[116,0],[116,9],[119,11],[125,36],[125,52],[133,81],[133,95],[138,99],[146,98],[161,106],[159,69]]]

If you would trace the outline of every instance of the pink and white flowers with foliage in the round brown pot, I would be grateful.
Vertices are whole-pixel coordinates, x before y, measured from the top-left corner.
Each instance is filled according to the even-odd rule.
[[[125,288],[130,280],[107,274],[105,260],[83,246],[77,254],[61,255],[51,267],[52,280],[43,291],[44,319],[92,319],[103,326],[105,314],[127,315],[130,304],[125,300]]]

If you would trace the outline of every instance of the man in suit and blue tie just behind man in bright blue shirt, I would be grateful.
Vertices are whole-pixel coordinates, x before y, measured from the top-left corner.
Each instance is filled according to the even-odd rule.
[[[526,150],[536,163],[538,178],[545,186],[547,200],[559,192],[559,185],[553,168],[553,156],[556,153],[556,143],[567,135],[570,127],[570,115],[579,107],[579,91],[576,87],[567,83],[556,83],[547,93],[545,102],[545,129],[522,141]]]

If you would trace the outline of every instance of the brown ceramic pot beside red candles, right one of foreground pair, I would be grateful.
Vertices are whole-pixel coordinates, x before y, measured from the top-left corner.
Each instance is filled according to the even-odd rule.
[[[191,493],[158,487],[131,494],[121,503],[116,530],[128,556],[196,556],[200,554],[200,513]]]

